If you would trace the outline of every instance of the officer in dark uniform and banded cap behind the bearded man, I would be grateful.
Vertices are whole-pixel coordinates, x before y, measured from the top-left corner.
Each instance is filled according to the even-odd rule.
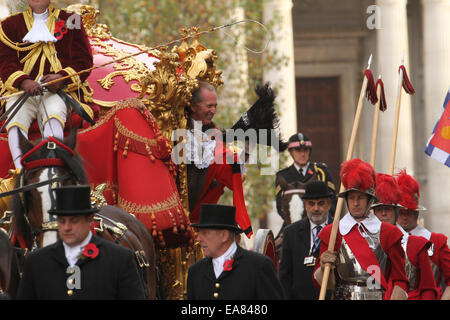
[[[283,218],[284,224],[289,225],[298,220],[298,218],[294,218],[295,213],[290,212],[290,201],[295,195],[301,197],[305,193],[306,185],[316,180],[325,182],[330,192],[333,193],[330,212],[334,215],[337,202],[335,185],[327,165],[311,161],[311,140],[306,134],[296,133],[289,138],[288,151],[294,163],[278,171],[275,179],[277,211]]]

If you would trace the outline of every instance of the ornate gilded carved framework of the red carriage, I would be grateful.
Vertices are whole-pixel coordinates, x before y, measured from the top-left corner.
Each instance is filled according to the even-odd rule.
[[[93,89],[91,105],[98,107],[100,117],[104,117],[119,101],[137,98],[154,117],[160,133],[171,141],[175,129],[186,128],[185,108],[198,82],[207,81],[215,87],[223,83],[221,71],[215,66],[217,55],[200,43],[197,28],[181,30],[184,40],[171,50],[167,46],[150,50],[146,46],[114,38],[106,25],[97,24],[99,12],[92,6],[77,4],[68,10],[82,16],[93,49],[94,65],[119,60],[93,70],[87,80]],[[143,51],[145,53],[129,57]],[[189,212],[186,165],[178,165],[175,176],[179,197],[185,212]],[[101,186],[103,191],[108,187],[111,186]],[[98,192],[96,198],[102,201]],[[192,245],[156,249],[165,298],[183,299],[187,270],[201,257],[200,250]]]

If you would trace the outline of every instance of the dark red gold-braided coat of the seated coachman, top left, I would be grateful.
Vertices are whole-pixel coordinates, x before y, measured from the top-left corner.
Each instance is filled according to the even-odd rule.
[[[67,21],[72,13],[64,10],[48,8],[47,27],[50,33],[55,32],[57,21]],[[81,18],[80,18],[81,21]],[[57,42],[24,43],[22,39],[33,26],[31,9],[14,14],[1,22],[0,29],[0,78],[3,88],[0,95],[19,91],[25,79],[38,80],[40,76],[58,73],[62,76],[74,75],[65,80],[67,90],[79,102],[91,102],[92,89],[85,81],[89,72],[75,75],[89,69],[93,65],[93,57],[88,37],[83,24],[80,28],[68,29],[62,39]],[[78,92],[79,91],[79,92]],[[94,118],[92,109],[82,103],[86,113]]]

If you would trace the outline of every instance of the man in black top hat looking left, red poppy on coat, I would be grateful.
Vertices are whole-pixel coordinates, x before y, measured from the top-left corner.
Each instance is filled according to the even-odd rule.
[[[198,241],[205,258],[189,268],[189,300],[275,300],[284,293],[275,266],[266,256],[241,248],[235,241],[242,230],[235,207],[202,204]]]

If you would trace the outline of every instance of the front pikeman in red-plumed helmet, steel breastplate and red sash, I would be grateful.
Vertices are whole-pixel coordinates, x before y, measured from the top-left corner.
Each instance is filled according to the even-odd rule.
[[[329,263],[328,289],[334,290],[336,300],[406,300],[409,281],[402,232],[370,211],[376,200],[374,169],[353,159],[342,164],[340,177],[346,190],[339,196],[345,198],[348,213],[339,221],[333,251],[328,251],[332,225],[320,232],[320,260],[313,280],[320,287]]]

